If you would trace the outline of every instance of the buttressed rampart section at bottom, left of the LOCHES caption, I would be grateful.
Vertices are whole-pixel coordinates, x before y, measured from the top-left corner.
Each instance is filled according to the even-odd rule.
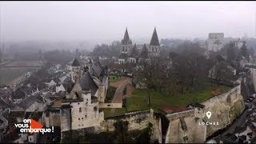
[[[203,122],[200,110],[186,110],[179,113],[167,114],[170,120],[166,134],[166,143],[204,142],[206,140],[206,126],[198,125]]]

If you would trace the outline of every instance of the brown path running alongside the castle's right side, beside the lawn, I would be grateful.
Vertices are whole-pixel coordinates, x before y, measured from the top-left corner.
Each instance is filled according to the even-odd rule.
[[[122,103],[122,91],[124,90],[124,88],[130,81],[131,81],[131,78],[123,78],[122,80],[120,80],[118,82],[113,82],[116,84],[116,86],[118,83],[118,88],[117,88],[117,90],[115,90],[112,103]],[[111,86],[111,84],[110,84],[110,86]],[[114,111],[115,111],[115,109],[111,109],[110,115],[114,115]]]

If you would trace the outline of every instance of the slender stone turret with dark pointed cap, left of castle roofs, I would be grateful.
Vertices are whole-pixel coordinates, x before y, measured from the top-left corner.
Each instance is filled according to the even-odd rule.
[[[77,79],[81,77],[81,65],[78,62],[77,58],[74,58],[74,61],[71,65],[71,69],[71,80],[73,83],[75,83]]]

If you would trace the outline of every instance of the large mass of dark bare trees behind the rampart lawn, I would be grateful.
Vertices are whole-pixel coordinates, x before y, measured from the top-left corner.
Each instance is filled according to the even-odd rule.
[[[246,52],[240,54],[246,55]],[[166,94],[184,94],[204,89],[209,71],[214,73],[216,84],[230,82],[234,78],[230,65],[221,54],[207,54],[198,42],[183,42],[169,53],[169,59],[159,57],[141,62],[136,74],[139,81],[146,84],[149,94],[152,89]]]

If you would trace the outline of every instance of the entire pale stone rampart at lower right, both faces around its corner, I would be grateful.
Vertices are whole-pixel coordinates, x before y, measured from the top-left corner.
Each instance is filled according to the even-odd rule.
[[[166,115],[170,120],[166,143],[205,142],[206,137],[229,125],[245,109],[240,85],[202,102],[202,105],[205,105],[204,109],[195,108]],[[212,114],[210,118],[206,117],[207,111]],[[215,122],[216,125],[206,126],[202,125],[203,122]]]

